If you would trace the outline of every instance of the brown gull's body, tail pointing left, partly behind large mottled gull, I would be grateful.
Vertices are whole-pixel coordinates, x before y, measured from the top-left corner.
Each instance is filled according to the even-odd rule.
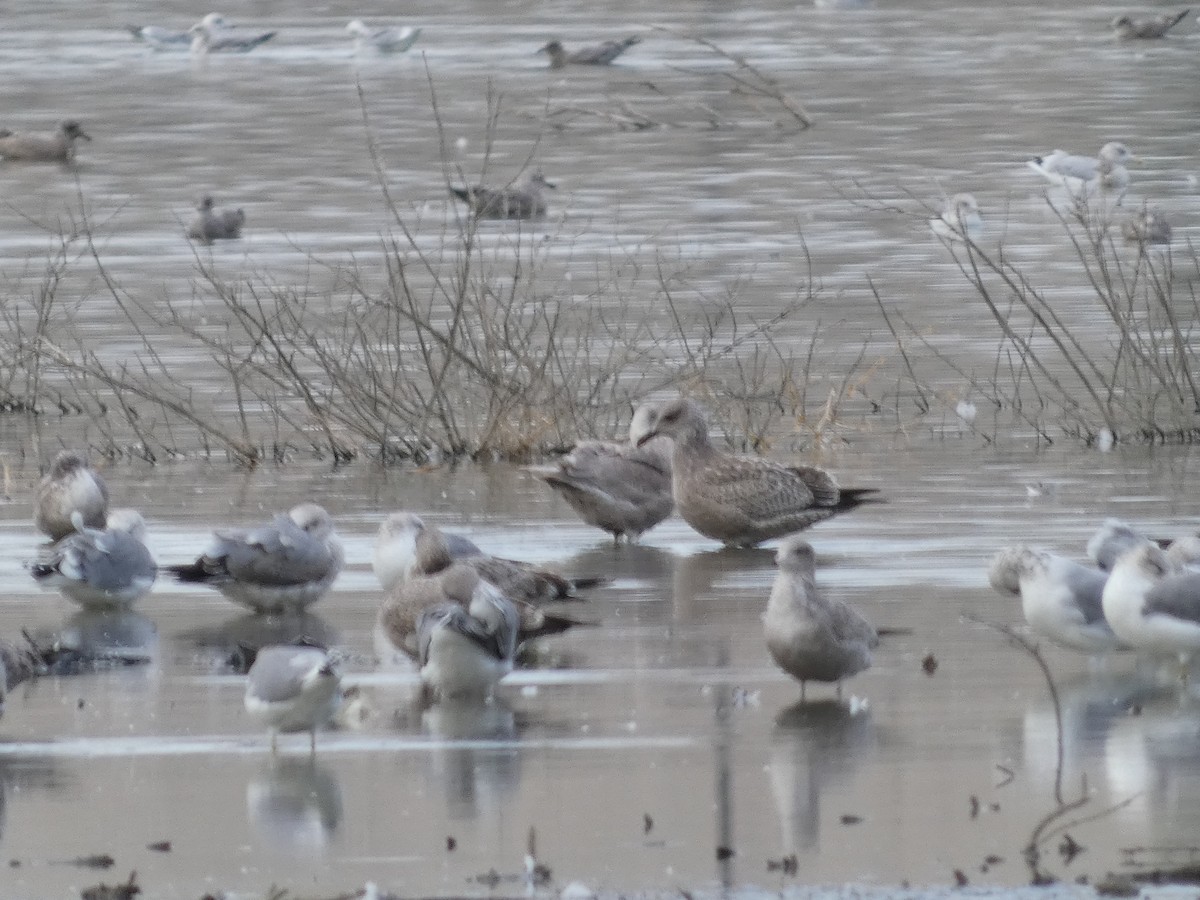
[[[641,412],[641,410],[638,410]],[[653,438],[642,446],[630,439],[581,440],[571,452],[547,466],[527,470],[550,485],[589,526],[602,528],[619,544],[634,544],[671,515],[671,439]]]

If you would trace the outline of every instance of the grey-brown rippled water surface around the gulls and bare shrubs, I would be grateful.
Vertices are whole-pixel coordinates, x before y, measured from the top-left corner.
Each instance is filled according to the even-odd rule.
[[[804,347],[820,324],[853,358],[864,341],[890,342],[870,276],[935,342],[984,352],[978,365],[990,366],[995,340],[980,337],[972,292],[929,235],[924,204],[973,192],[985,240],[1003,240],[1081,329],[1091,326],[1079,305],[1086,292],[1025,158],[1123,139],[1144,161],[1127,203],[1160,206],[1176,246],[1195,234],[1195,22],[1168,41],[1117,44],[1106,22],[1118,11],[251,0],[224,12],[278,29],[277,38],[247,56],[194,62],[133,43],[121,25],[186,26],[205,10],[8,4],[2,124],[50,127],[72,115],[94,140],[74,170],[0,164],[0,269],[13,295],[34,293],[54,235],[82,208],[122,290],[188,300],[197,256],[209,251],[182,239],[182,222],[192,197],[211,190],[248,218],[244,240],[211,250],[223,275],[336,295],[352,260],[367,277],[380,274],[390,228],[368,136],[397,209],[428,226],[419,240],[433,246],[449,215],[442,146],[451,168],[478,176],[494,91],[502,116],[490,179],[511,178],[532,157],[559,182],[534,232],[548,235],[556,277],[595,278],[614,257],[666,256],[694,283],[734,286],[739,306],[769,314],[811,265],[823,290],[780,340]],[[424,25],[421,53],[355,61],[346,20],[397,14]],[[779,127],[775,110],[731,97],[712,54],[654,25],[744,54],[815,127]],[[534,55],[553,36],[626,32],[644,40],[611,70],[548,72]],[[619,102],[667,127],[620,132],[587,115],[540,125],[554,110]],[[701,104],[724,127],[702,127]],[[503,246],[510,234],[490,226],[485,240]],[[72,265],[61,292],[79,304],[101,355],[140,346],[121,331],[95,265]],[[203,366],[188,376],[203,380]],[[137,870],[152,896],[271,883],[329,895],[366,881],[404,894],[516,893],[530,828],[558,884],[949,883],[955,869],[973,882],[1021,883],[1020,848],[1051,809],[1057,731],[1037,667],[976,622],[1020,616],[988,589],[985,562],[1018,540],[1080,556],[1106,515],[1165,534],[1200,515],[1187,449],[1038,455],[980,448],[966,432],[914,445],[847,433],[820,462],[842,484],[882,488],[888,503],[812,532],[820,578],[877,624],[911,634],[886,641],[844,702],[816,686],[798,704],[798,686],[774,670],[761,637],[768,550],[720,551],[679,520],[642,546],[614,548],[509,467],[108,467],[115,500],[146,515],[161,562],[193,557],[214,526],[253,523],[302,498],[334,512],[348,566],[304,628],[350,654],[347,680],[362,686],[371,715],[323,733],[314,760],[304,738],[272,760],[242,712],[241,679],[221,666],[239,640],[263,640],[272,623],[167,581],[119,620],[83,616],[32,587],[23,562],[40,544],[29,522],[34,457],[62,439],[100,436],[84,422],[43,421],[35,432],[24,420],[0,432],[10,500],[0,506],[0,634],[61,630],[140,648],[150,661],[44,678],[10,696],[0,721],[6,895],[62,896],[113,881],[65,864],[92,853],[110,853],[120,877]],[[1031,499],[1026,485],[1039,481],[1055,490]],[[498,554],[610,577],[571,610],[594,626],[536,648],[535,667],[515,673],[494,707],[414,710],[412,676],[376,665],[371,634],[371,544],[380,517],[401,508]],[[926,674],[930,655],[937,667]],[[1093,672],[1054,648],[1046,659],[1062,700],[1068,797],[1086,776],[1094,798],[1081,816],[1121,804],[1069,829],[1086,847],[1070,866],[1051,841],[1051,869],[1094,876],[1195,862],[1195,698],[1135,676],[1129,660]],[[851,695],[865,701],[854,712]],[[149,850],[156,841],[170,852]],[[794,876],[768,870],[790,854]],[[494,888],[478,880],[488,872],[500,878]]]

